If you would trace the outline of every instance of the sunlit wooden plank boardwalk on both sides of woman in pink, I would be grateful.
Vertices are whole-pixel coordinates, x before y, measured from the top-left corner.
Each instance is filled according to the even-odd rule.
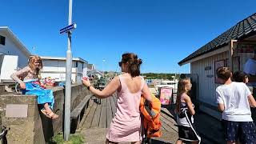
[[[90,99],[89,106],[84,114],[82,129],[110,127],[110,122],[116,112],[117,97],[113,95],[101,101],[101,103],[98,103],[96,98]],[[178,132],[173,114],[170,114],[169,110],[162,108],[160,119],[162,130]]]

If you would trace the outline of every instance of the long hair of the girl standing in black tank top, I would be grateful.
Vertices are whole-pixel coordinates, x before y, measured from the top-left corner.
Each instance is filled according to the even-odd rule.
[[[186,89],[187,85],[190,84],[190,78],[183,78],[178,81],[178,91],[177,91],[177,100],[176,100],[176,108],[177,112],[180,111],[180,103],[182,94],[187,94],[188,90]]]

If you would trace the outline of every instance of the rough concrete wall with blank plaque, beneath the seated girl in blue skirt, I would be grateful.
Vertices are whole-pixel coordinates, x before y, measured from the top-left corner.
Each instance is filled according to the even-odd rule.
[[[0,96],[2,125],[10,128],[7,134],[9,143],[46,143],[63,129],[65,90],[60,87],[54,91],[54,112],[57,119],[46,118],[38,110],[34,95],[3,94]],[[82,85],[72,86],[71,111],[78,106],[89,91]]]

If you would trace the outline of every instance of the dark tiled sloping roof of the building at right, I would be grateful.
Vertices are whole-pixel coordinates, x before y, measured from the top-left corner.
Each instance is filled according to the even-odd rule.
[[[178,65],[182,66],[184,62],[187,62],[190,59],[196,58],[202,54],[209,53],[210,51],[217,50],[222,46],[228,45],[231,39],[238,40],[238,39],[246,38],[253,34],[256,34],[255,31],[256,31],[256,13],[238,22],[235,26],[232,26],[229,30],[226,30],[224,33],[220,34],[217,38],[214,38],[212,41],[208,42],[205,46],[202,46],[200,49],[194,51],[194,53],[182,59],[181,62],[178,62]]]

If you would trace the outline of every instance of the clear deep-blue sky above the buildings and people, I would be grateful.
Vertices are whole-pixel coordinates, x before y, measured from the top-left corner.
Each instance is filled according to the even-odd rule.
[[[189,73],[182,58],[254,14],[256,1],[73,0],[73,57],[99,70],[119,70],[125,52],[142,58],[142,72]],[[9,26],[33,53],[66,57],[68,0],[0,0]],[[102,62],[105,59],[106,62]]]

